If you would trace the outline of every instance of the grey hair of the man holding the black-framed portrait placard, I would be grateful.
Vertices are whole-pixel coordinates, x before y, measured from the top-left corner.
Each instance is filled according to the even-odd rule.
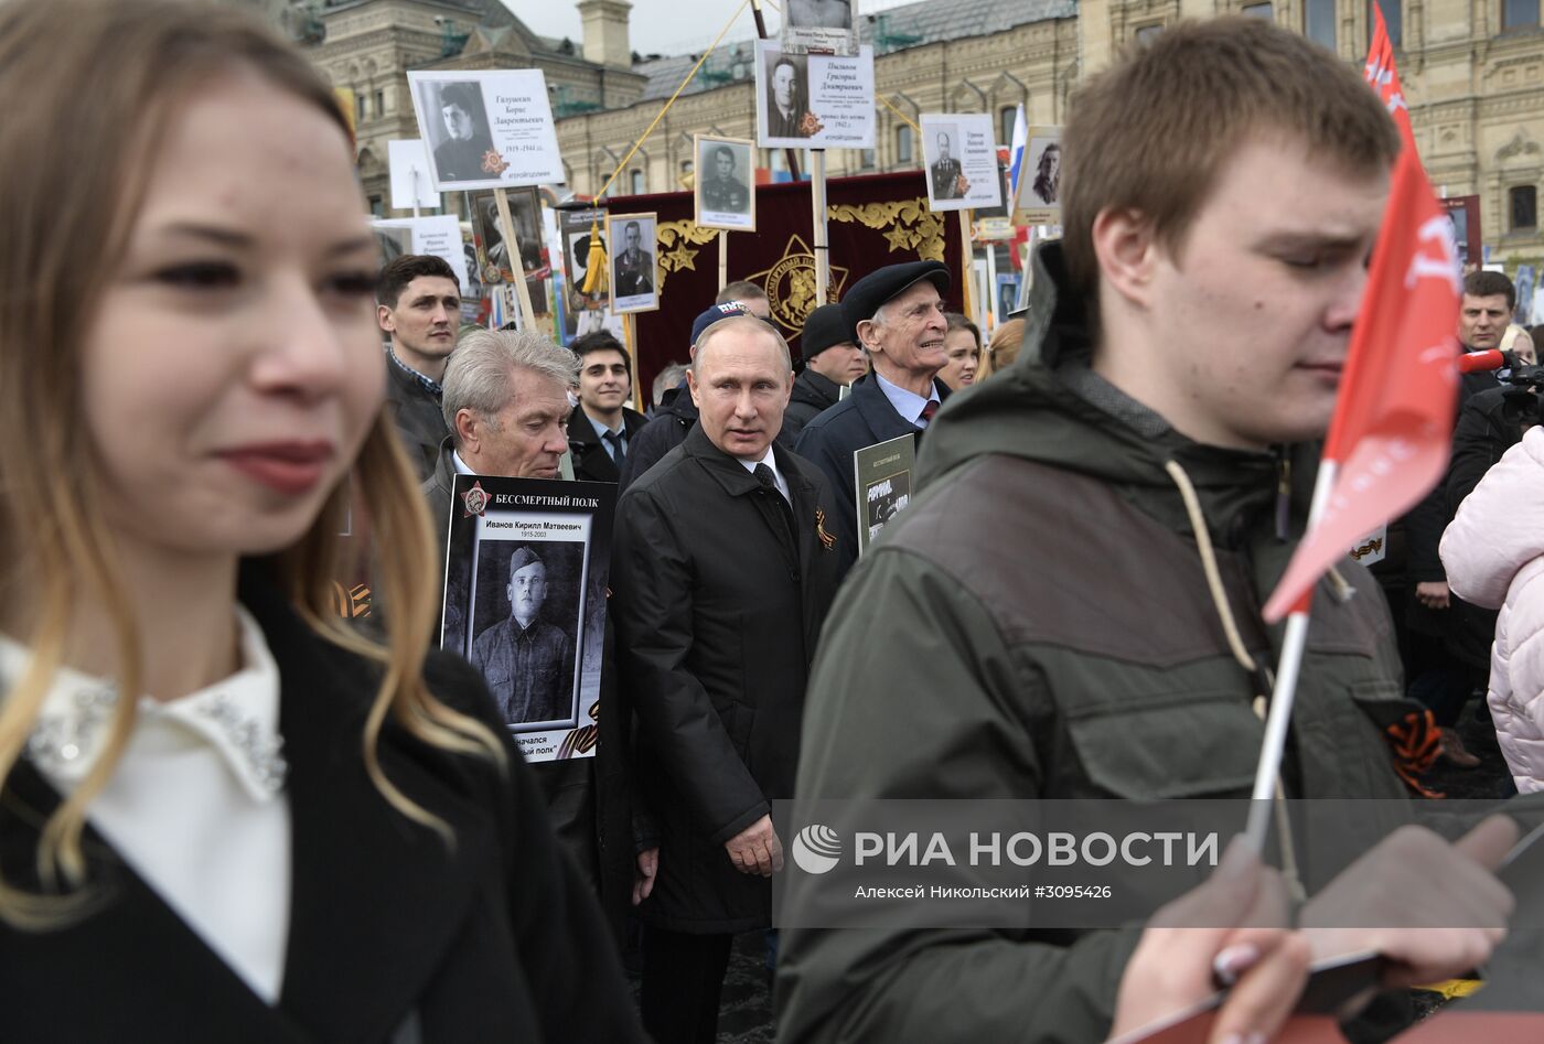
[[[568,389],[579,380],[579,357],[553,344],[536,330],[469,330],[455,343],[445,364],[442,409],[455,446],[462,437],[455,414],[471,409],[494,431],[497,417],[510,405],[510,374],[527,369]]]

